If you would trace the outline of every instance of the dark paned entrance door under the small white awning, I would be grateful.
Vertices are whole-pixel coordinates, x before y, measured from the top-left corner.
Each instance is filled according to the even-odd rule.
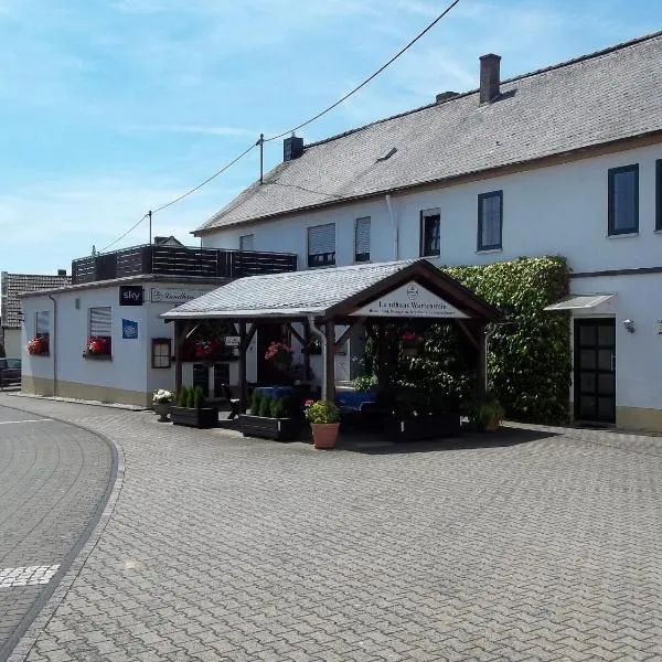
[[[575,419],[616,423],[615,320],[575,320]]]

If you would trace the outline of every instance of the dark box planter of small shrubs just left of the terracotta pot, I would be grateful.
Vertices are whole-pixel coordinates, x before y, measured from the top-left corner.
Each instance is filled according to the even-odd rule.
[[[288,398],[261,396],[257,389],[250,398],[250,414],[242,414],[241,420],[244,437],[290,441],[301,433],[301,420]]]

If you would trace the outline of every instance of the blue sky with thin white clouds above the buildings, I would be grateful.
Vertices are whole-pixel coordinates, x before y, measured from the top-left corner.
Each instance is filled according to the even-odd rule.
[[[52,273],[258,138],[375,71],[447,0],[0,0],[0,269]],[[662,26],[658,0],[460,0],[380,78],[307,127],[317,140]],[[273,166],[281,143],[266,149]],[[154,216],[188,233],[258,174],[258,152]],[[147,224],[116,247],[147,241]]]

